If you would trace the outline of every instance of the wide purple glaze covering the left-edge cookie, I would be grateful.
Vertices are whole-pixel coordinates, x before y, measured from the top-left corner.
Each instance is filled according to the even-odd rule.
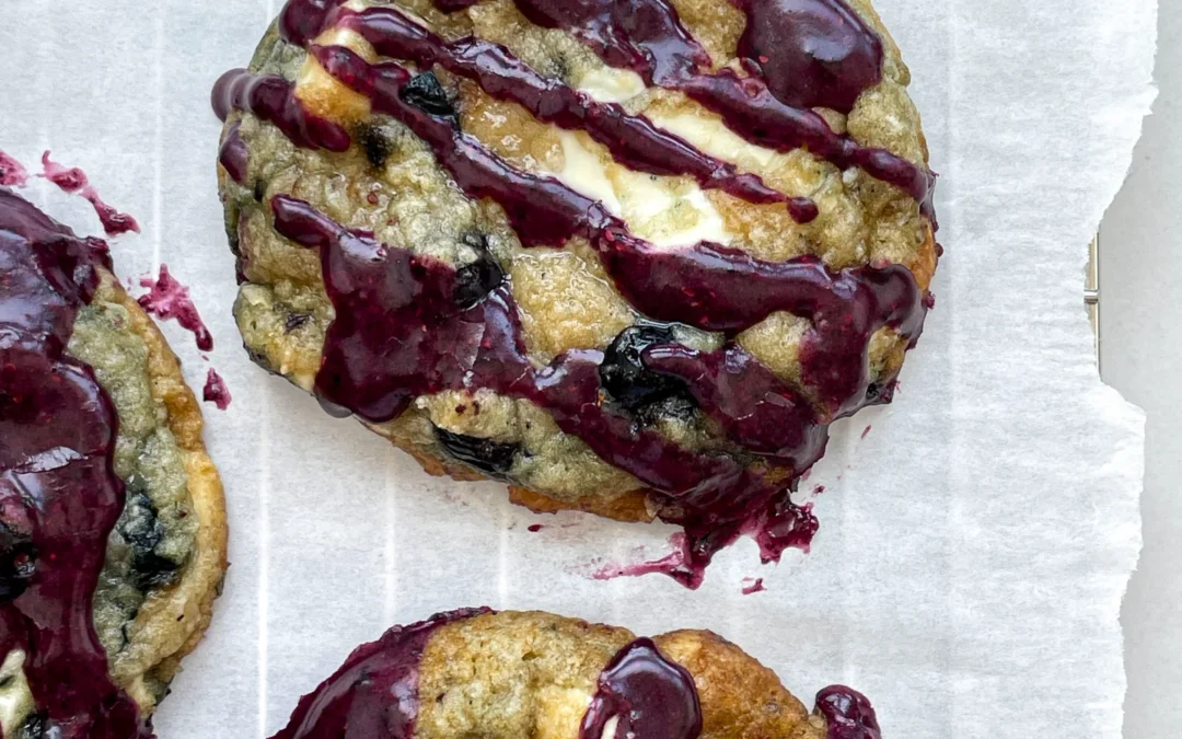
[[[25,652],[46,735],[143,739],[92,620],[124,500],[117,416],[93,371],[64,354],[99,266],[105,244],[0,189],[0,654]]]

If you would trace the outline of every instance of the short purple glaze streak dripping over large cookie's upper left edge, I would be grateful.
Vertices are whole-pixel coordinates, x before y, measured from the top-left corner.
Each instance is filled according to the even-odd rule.
[[[230,70],[214,85],[214,112],[225,121],[232,110],[245,110],[274,124],[292,143],[305,149],[348,149],[349,132],[304,110],[293,89],[292,83],[275,74]]]

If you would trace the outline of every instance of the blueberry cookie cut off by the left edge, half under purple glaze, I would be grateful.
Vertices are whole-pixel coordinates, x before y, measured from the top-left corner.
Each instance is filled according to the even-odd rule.
[[[78,238],[0,188],[0,728],[150,737],[226,571],[176,357]]]

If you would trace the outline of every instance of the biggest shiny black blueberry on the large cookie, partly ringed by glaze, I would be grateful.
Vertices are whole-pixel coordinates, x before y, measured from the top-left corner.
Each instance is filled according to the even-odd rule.
[[[641,352],[652,344],[675,342],[673,330],[668,326],[638,325],[624,329],[604,352],[603,364],[599,365],[599,381],[604,389],[617,403],[634,411],[671,397],[693,404],[684,383],[649,370],[641,359]]]

